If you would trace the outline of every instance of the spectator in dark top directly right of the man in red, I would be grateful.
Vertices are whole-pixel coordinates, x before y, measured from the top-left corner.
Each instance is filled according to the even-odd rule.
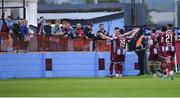
[[[92,23],[88,23],[87,27],[84,30],[85,33],[85,37],[86,38],[93,38],[94,37],[94,32],[93,32],[93,24]]]

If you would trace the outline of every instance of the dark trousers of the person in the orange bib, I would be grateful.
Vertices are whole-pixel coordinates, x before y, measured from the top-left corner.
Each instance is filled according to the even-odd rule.
[[[144,61],[145,61],[146,51],[142,49],[142,50],[136,51],[136,54],[138,55],[138,64],[140,68],[139,75],[144,75]]]

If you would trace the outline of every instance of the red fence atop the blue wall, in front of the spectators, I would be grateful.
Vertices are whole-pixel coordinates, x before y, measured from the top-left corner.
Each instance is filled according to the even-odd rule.
[[[1,38],[3,48],[4,39]],[[25,37],[9,35],[8,49],[11,51],[110,51],[110,43],[106,40],[85,38],[67,38],[56,35],[27,35]],[[3,52],[3,51],[1,51]]]

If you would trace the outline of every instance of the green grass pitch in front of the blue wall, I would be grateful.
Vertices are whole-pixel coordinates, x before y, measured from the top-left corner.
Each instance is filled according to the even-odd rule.
[[[0,80],[0,96],[179,97],[180,74],[170,79],[151,75],[111,78],[45,78]]]

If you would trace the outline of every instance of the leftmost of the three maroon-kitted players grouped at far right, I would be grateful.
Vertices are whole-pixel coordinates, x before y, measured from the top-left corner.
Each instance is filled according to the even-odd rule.
[[[149,63],[150,70],[153,74],[153,77],[156,77],[154,64],[158,61],[158,40],[157,40],[157,32],[155,28],[151,29],[151,37],[150,37],[150,55],[149,55]]]

